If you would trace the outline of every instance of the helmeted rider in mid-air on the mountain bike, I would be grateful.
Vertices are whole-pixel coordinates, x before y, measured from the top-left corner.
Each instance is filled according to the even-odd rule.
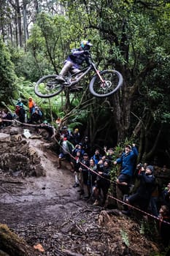
[[[80,71],[80,66],[85,61],[86,64],[90,65],[88,56],[90,47],[93,46],[89,40],[83,40],[80,43],[80,48],[72,49],[72,53],[68,56],[66,61],[64,61],[64,66],[61,69],[60,74],[57,76],[57,80],[64,83],[64,75],[70,70],[73,73]]]

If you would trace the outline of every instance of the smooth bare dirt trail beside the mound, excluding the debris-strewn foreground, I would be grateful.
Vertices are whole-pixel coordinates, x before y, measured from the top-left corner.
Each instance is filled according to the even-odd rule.
[[[30,145],[36,148],[41,157],[42,166],[45,167],[45,177],[31,177],[21,180],[15,189],[6,192],[0,197],[0,221],[13,226],[18,220],[26,219],[52,219],[61,215],[61,211],[70,212],[75,208],[78,199],[77,189],[74,184],[74,174],[69,170],[57,168],[57,157],[50,151],[48,144],[41,140],[30,140]],[[18,178],[17,178],[18,180]],[[83,201],[81,202],[83,203]],[[5,214],[3,208],[12,208],[12,216]],[[4,216],[1,216],[1,213]]]

